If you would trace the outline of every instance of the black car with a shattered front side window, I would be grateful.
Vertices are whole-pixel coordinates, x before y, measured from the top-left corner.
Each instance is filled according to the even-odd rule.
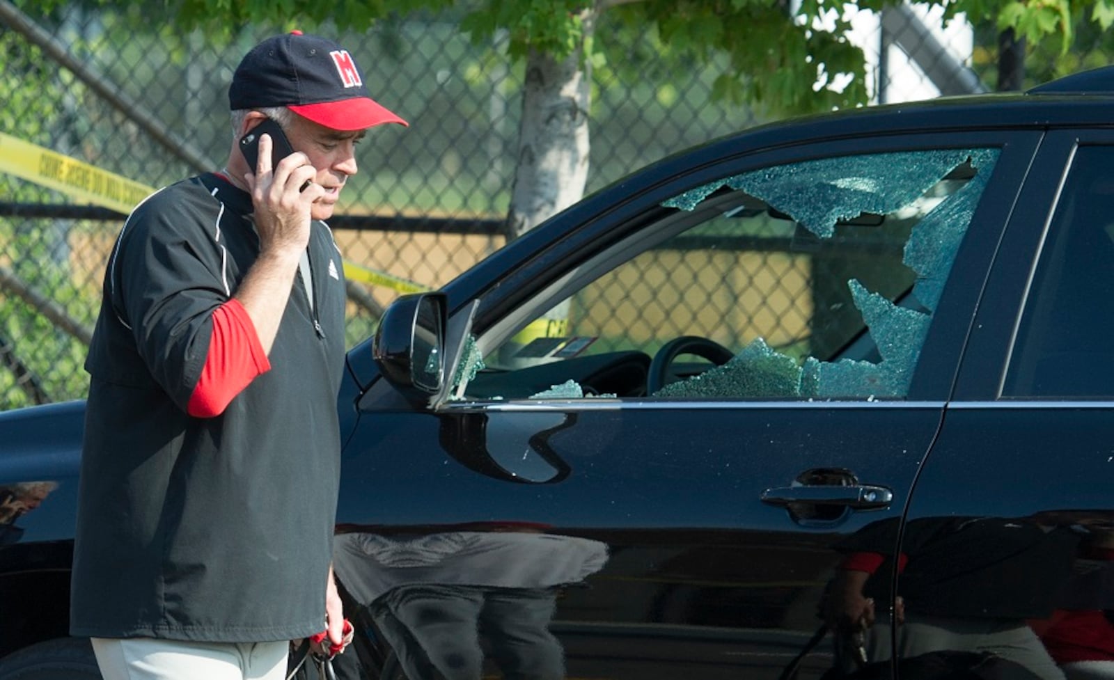
[[[350,352],[335,672],[1114,673],[1112,328],[1114,68],[663,160]],[[98,677],[82,413],[0,414],[0,680]]]

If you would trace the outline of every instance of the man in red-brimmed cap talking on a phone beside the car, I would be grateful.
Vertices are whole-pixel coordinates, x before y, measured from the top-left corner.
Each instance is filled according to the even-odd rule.
[[[71,628],[107,680],[282,679],[289,641],[346,643],[331,541],[344,285],[328,227],[354,145],[405,122],[351,56],[295,31],[244,57],[227,166],[120,231],[91,375]],[[294,152],[272,164],[268,117]]]

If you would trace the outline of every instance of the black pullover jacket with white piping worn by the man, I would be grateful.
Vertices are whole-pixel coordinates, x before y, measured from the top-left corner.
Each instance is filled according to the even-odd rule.
[[[212,313],[258,254],[251,210],[203,175],[148,197],[121,230],[86,362],[72,634],[254,642],[324,629],[345,300],[324,224],[309,248],[315,304],[295,277],[271,369],[223,414],[186,413]]]

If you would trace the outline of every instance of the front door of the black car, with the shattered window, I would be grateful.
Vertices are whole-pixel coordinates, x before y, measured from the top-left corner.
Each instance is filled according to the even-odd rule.
[[[345,447],[362,672],[819,677],[844,543],[900,518],[1038,138],[739,151],[466,274],[450,398],[378,385]]]

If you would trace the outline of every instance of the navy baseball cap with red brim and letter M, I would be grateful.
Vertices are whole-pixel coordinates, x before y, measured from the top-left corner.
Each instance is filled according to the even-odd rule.
[[[409,125],[368,95],[348,50],[302,31],[252,48],[232,77],[228,104],[234,111],[284,106],[334,130]]]

